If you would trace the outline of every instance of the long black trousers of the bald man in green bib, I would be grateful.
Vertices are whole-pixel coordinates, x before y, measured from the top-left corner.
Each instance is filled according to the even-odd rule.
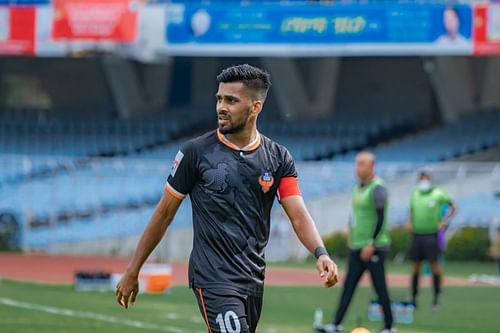
[[[334,324],[339,325],[347,312],[347,308],[352,300],[352,295],[356,290],[359,280],[366,269],[369,270],[373,287],[379,298],[384,312],[385,328],[391,328],[393,319],[391,311],[391,301],[387,291],[385,280],[385,257],[386,250],[377,249],[369,262],[363,261],[360,257],[361,250],[351,250],[349,252],[349,267],[342,289],[342,296],[335,314]]]

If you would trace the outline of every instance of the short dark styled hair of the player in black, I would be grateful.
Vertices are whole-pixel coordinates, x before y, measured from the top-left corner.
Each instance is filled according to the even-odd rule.
[[[246,88],[253,90],[258,98],[264,101],[269,87],[271,87],[271,76],[260,68],[244,64],[222,70],[217,75],[217,82],[242,82]]]

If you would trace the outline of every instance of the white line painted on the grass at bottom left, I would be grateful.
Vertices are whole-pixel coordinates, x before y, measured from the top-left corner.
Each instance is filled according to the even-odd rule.
[[[118,318],[118,317],[106,316],[106,315],[93,313],[93,312],[76,311],[76,310],[72,310],[72,309],[56,308],[56,307],[46,306],[46,305],[41,305],[41,304],[20,302],[20,301],[16,301],[16,300],[13,300],[10,298],[5,298],[5,297],[0,297],[0,304],[12,306],[12,307],[16,307],[16,308],[27,309],[27,310],[46,312],[46,313],[55,314],[55,315],[93,319],[93,320],[97,320],[97,321],[104,321],[107,323],[120,324],[120,325],[148,329],[148,330],[157,330],[157,331],[172,332],[172,333],[188,332],[183,328],[174,327],[174,326],[160,326],[160,325],[156,325],[156,324],[145,323],[145,322],[138,321],[138,320],[130,320],[130,319],[123,319],[123,318]]]

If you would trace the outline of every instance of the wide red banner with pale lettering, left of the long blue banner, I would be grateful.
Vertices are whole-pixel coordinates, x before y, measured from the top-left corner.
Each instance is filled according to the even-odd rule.
[[[133,42],[137,0],[54,0],[52,38]]]

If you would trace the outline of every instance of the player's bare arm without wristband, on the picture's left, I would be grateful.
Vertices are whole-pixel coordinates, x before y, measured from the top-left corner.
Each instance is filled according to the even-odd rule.
[[[181,203],[181,199],[174,197],[169,191],[165,190],[154,209],[151,220],[137,244],[134,255],[116,286],[116,301],[125,309],[128,308],[129,301],[131,304],[135,303],[139,292],[139,272],[141,267],[162,239]]]

